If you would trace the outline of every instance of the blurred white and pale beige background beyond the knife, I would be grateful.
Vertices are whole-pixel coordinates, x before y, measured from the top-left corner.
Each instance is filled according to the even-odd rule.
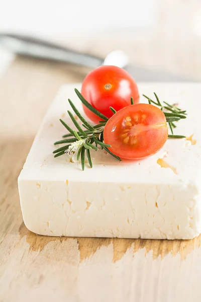
[[[0,0],[0,32],[79,51],[126,50],[134,63],[201,80],[200,0]],[[12,58],[0,48],[0,72]]]

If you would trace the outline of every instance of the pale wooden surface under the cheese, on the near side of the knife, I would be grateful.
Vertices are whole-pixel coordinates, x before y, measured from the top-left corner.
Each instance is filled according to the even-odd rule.
[[[201,236],[50,238],[26,229],[17,178],[58,88],[87,71],[73,70],[17,58],[0,81],[0,302],[200,301]]]

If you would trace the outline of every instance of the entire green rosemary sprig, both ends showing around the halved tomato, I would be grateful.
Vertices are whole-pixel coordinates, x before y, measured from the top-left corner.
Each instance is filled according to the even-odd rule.
[[[73,110],[73,112],[76,114],[78,119],[82,122],[82,127],[85,128],[84,130],[80,124],[77,122],[75,117],[73,116],[72,112],[68,110],[69,117],[71,121],[73,122],[75,128],[77,130],[73,130],[68,124],[66,124],[62,119],[60,119],[60,122],[62,125],[68,130],[69,133],[63,135],[64,139],[56,141],[54,144],[65,144],[64,146],[61,146],[53,151],[54,157],[59,157],[64,154],[67,155],[75,155],[76,154],[76,160],[79,161],[81,158],[81,167],[82,170],[84,170],[85,167],[85,154],[88,160],[88,164],[90,168],[92,168],[92,161],[91,161],[91,155],[90,150],[98,150],[98,146],[104,150],[106,150],[107,153],[109,153],[111,156],[116,158],[117,160],[121,161],[121,159],[113,154],[111,150],[108,147],[111,147],[111,145],[106,144],[104,142],[104,127],[109,120],[104,114],[97,111],[95,108],[93,108],[80,94],[80,92],[75,89],[75,93],[77,94],[78,98],[82,102],[84,106],[86,106],[91,112],[93,112],[95,115],[97,115],[101,121],[97,125],[90,125],[85,118],[81,115],[81,113],[77,110],[73,102],[68,99],[68,102]],[[183,135],[174,135],[173,129],[176,128],[176,125],[174,124],[175,121],[178,121],[180,119],[186,118],[186,111],[181,110],[176,106],[176,104],[170,105],[166,102],[164,102],[164,106],[161,105],[161,102],[154,93],[156,101],[151,100],[147,96],[144,95],[145,98],[148,99],[149,104],[154,104],[155,106],[160,107],[160,109],[164,112],[167,122],[169,123],[171,134],[168,135],[169,138],[183,138],[185,136]],[[131,98],[131,105],[134,105],[133,98]],[[111,111],[115,114],[117,111],[110,107]]]

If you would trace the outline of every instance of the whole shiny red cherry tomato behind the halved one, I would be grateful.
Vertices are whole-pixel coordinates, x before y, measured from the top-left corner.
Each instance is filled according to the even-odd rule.
[[[82,96],[99,112],[110,118],[113,112],[131,104],[139,103],[139,93],[136,82],[124,69],[117,66],[100,66],[92,70],[82,83]],[[84,105],[85,114],[95,123],[100,118],[88,110]]]

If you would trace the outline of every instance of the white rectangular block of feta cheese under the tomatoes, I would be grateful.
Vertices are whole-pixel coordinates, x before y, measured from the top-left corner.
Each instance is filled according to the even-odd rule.
[[[63,86],[50,109],[19,176],[20,202],[27,228],[47,236],[192,239],[201,233],[200,84],[140,84],[140,94],[179,103],[187,118],[154,156],[119,162],[92,150],[93,168],[67,155],[54,158],[54,146],[70,122],[68,98],[83,113],[74,88]],[[141,97],[141,102],[146,99]],[[193,134],[193,136],[192,136]],[[61,146],[61,145],[60,145]]]

